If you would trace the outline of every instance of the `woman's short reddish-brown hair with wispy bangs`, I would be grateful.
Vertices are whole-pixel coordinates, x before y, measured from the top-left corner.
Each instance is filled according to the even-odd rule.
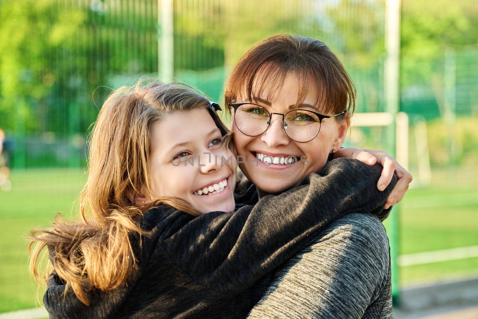
[[[253,101],[266,84],[272,88],[269,95],[274,95],[290,73],[299,79],[297,105],[313,81],[318,92],[315,105],[324,115],[342,111],[350,115],[355,110],[356,88],[338,57],[319,40],[288,34],[264,39],[240,58],[228,78],[224,105],[234,99]]]

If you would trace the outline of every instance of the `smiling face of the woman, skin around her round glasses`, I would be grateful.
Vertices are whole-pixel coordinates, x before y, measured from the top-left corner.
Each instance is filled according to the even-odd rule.
[[[254,101],[237,99],[234,103],[253,102],[266,108],[269,113],[285,114],[291,110],[290,106],[294,106],[297,102],[299,93],[297,81],[295,74],[291,73],[273,99],[267,100],[271,87],[266,85],[262,95],[256,97]],[[310,82],[308,88],[303,105],[299,108],[323,114],[320,108],[313,107],[317,94],[315,85]],[[342,146],[348,129],[348,121],[339,123],[334,118],[324,119],[319,134],[312,141],[298,143],[291,140],[284,132],[282,116],[273,114],[267,131],[259,136],[251,137],[239,131],[234,121],[234,110],[232,112],[231,130],[234,132],[239,167],[262,194],[283,192],[297,186],[308,174],[319,172],[326,164],[332,149]],[[262,154],[272,157],[294,156],[297,162],[291,165],[269,163],[264,165],[264,162],[259,159],[263,156]],[[241,163],[242,157],[239,156],[245,158],[244,163]]]

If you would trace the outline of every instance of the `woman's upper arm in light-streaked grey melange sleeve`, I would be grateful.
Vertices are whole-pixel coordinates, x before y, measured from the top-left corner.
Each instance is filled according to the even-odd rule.
[[[392,318],[390,253],[380,221],[350,214],[275,274],[249,318]]]

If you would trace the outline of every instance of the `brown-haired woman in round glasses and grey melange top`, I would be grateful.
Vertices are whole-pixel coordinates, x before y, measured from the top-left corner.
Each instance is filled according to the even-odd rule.
[[[239,167],[252,183],[239,204],[281,194],[320,172],[344,143],[355,99],[347,71],[318,40],[275,35],[242,56],[225,91]],[[375,154],[384,166],[380,190],[394,171],[401,177],[389,208],[403,198],[412,176],[386,153]],[[295,201],[301,205],[301,198]],[[393,315],[389,243],[378,218],[346,216],[311,242],[276,273],[250,318]]]

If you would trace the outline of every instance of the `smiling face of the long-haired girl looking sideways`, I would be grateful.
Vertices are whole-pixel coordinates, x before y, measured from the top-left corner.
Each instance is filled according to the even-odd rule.
[[[150,138],[155,197],[184,199],[202,214],[234,211],[236,159],[207,110],[168,115],[153,125]]]

